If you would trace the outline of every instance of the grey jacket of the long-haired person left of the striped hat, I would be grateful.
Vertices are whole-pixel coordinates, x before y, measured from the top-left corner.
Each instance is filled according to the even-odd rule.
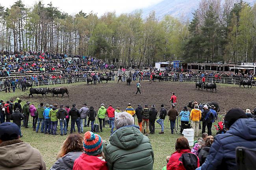
[[[63,157],[60,157],[54,165],[50,168],[50,170],[72,170],[74,166],[75,160],[82,154],[83,152],[69,152]]]

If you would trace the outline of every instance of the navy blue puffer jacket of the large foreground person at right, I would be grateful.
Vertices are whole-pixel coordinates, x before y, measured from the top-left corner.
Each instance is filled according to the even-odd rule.
[[[256,149],[256,121],[238,119],[226,132],[214,137],[202,170],[236,170],[236,147]]]

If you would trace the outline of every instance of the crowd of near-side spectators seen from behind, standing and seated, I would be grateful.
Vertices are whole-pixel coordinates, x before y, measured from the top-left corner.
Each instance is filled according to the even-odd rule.
[[[153,169],[154,152],[147,136],[149,132],[155,133],[154,124],[158,115],[155,105],[151,105],[149,108],[147,104],[144,107],[139,104],[134,109],[128,103],[122,112],[120,107],[114,109],[109,104],[107,108],[103,103],[99,106],[98,111],[93,106],[88,107],[86,103],[83,103],[80,109],[76,108],[76,104],[72,104],[72,108],[70,108],[68,105],[64,107],[64,105],[49,105],[47,103],[40,103],[36,107],[29,101],[22,107],[20,103],[19,98],[16,98],[15,101],[1,101],[0,103],[0,167],[4,169],[19,167],[46,169],[40,152],[20,140],[22,120],[24,119],[23,126],[29,128],[30,116],[33,118],[33,130],[46,135],[58,135],[58,122],[60,135],[67,135],[67,128],[71,122],[70,135],[63,143],[52,170]],[[156,121],[161,125],[159,134],[164,132],[163,120],[166,116],[169,116],[170,122],[174,121],[175,123],[175,119],[179,115],[175,107],[173,104],[172,108],[167,111],[164,105],[161,105],[160,119]],[[180,112],[183,122],[191,121],[196,136],[198,136],[199,130],[197,121],[199,123],[201,120],[202,126],[205,128],[210,126],[216,117],[213,105],[210,106],[210,109],[207,105],[202,108],[201,111],[200,106],[195,104],[191,112],[188,112],[186,107]],[[176,152],[167,157],[167,166],[163,169],[185,170],[188,167],[198,168],[198,170],[236,169],[236,147],[256,148],[256,121],[252,119],[254,113],[251,113],[250,110],[244,112],[239,108],[229,110],[223,121],[226,133],[213,137],[209,128],[208,133],[205,133],[203,128],[202,137],[195,141],[193,148],[189,146],[185,137],[179,137],[175,144]],[[139,126],[135,125],[134,116],[137,116]],[[100,124],[100,131],[97,128],[98,125],[95,125],[96,117]],[[89,126],[90,122],[91,130],[84,133],[84,127]],[[99,134],[107,123],[111,127],[111,135],[109,140],[103,140]],[[75,124],[78,134],[73,133],[76,129]],[[144,130],[145,124],[146,130]],[[173,123],[171,123],[171,128],[173,128]],[[81,133],[84,135],[81,136]],[[233,142],[230,143],[230,141]],[[11,159],[9,159],[10,157]]]

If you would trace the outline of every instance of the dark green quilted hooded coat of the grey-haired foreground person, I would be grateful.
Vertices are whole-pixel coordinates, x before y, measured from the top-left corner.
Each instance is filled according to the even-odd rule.
[[[147,136],[135,125],[124,126],[104,141],[109,170],[153,170],[154,153]]]

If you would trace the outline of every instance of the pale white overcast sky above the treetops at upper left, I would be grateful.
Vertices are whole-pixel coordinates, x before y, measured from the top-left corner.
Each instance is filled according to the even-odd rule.
[[[17,0],[0,0],[0,5],[4,7],[11,7]],[[52,2],[54,7],[58,7],[60,11],[76,14],[79,11],[84,13],[98,13],[98,16],[106,13],[116,11],[119,15],[121,13],[130,13],[135,9],[142,9],[150,5],[157,4],[162,0],[42,0],[42,3],[47,5]],[[22,0],[27,6],[31,7],[38,3],[39,0]]]

